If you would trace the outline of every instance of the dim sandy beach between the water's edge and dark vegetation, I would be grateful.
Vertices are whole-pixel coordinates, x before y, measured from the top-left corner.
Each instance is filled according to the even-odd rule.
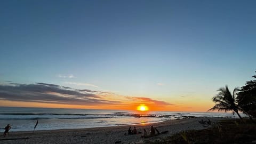
[[[185,130],[199,130],[205,129],[209,126],[199,124],[198,121],[208,118],[190,118],[169,120],[155,124],[132,125],[137,127],[137,132],[141,134],[124,135],[127,133],[129,126],[111,126],[111,127],[96,127],[89,129],[68,129],[68,130],[49,130],[49,131],[31,131],[26,132],[12,132],[10,130],[9,136],[0,137],[0,143],[145,143],[147,140],[156,140],[162,137],[170,136],[174,133]],[[225,118],[210,118],[214,123]],[[169,131],[166,134],[159,134],[151,138],[141,138],[143,129],[149,133],[150,126],[154,125],[159,132]],[[211,126],[212,126],[211,125]]]

